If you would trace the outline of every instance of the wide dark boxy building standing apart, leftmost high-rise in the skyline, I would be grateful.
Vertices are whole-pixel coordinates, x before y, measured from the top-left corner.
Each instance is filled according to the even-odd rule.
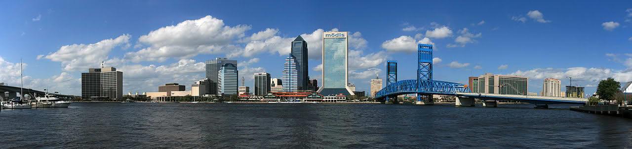
[[[123,99],[123,72],[116,68],[88,69],[81,78],[83,99]]]

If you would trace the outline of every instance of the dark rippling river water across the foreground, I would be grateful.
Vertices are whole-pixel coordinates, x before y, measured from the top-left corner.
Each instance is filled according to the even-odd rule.
[[[632,119],[568,105],[73,103],[0,124],[0,148],[632,148]]]

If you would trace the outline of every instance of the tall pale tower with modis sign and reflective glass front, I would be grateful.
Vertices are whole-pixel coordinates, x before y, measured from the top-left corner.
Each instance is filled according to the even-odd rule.
[[[325,96],[353,95],[351,89],[347,87],[349,82],[348,32],[324,32],[322,37],[322,83],[318,92]]]

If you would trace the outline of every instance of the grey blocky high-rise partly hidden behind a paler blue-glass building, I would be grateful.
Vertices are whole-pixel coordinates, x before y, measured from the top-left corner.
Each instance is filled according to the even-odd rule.
[[[226,63],[231,63],[234,67],[237,67],[237,60],[228,60],[228,58],[215,58],[214,60],[207,60],[205,69],[206,69],[206,78],[209,79],[209,87],[207,87],[207,92],[210,95],[217,95],[217,79],[219,70]]]

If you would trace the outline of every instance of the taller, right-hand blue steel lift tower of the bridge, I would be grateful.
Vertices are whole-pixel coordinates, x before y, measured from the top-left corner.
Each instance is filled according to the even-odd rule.
[[[421,80],[432,80],[432,45],[420,43],[417,46],[417,57],[417,84]],[[434,101],[432,94],[417,94],[417,102],[433,104]]]

